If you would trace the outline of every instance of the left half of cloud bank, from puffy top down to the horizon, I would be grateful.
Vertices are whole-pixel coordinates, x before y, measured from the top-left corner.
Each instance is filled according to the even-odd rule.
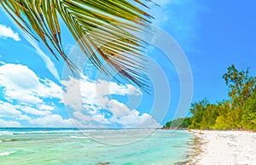
[[[61,100],[61,87],[48,79],[40,79],[26,65],[0,65],[0,88],[3,88],[3,99],[7,100],[0,100],[0,117],[26,120],[37,126],[47,124],[40,125],[42,127],[54,127],[56,122],[70,126],[66,120],[52,114],[55,110],[53,102],[44,101]],[[48,122],[54,118],[56,122],[50,125]]]

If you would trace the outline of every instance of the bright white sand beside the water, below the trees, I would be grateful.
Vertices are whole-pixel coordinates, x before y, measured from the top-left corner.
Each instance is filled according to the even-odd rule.
[[[202,153],[195,164],[256,165],[256,133],[193,130],[202,139]]]

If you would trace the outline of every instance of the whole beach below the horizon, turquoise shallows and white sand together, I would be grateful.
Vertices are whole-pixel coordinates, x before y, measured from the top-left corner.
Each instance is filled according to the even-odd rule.
[[[0,128],[0,145],[3,164],[256,164],[245,131]]]

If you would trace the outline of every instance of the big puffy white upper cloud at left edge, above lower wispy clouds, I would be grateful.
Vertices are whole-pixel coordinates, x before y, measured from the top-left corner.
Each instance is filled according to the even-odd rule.
[[[1,65],[0,87],[4,88],[5,99],[9,101],[40,105],[44,104],[44,98],[61,100],[61,87],[47,79],[40,79],[26,65]]]

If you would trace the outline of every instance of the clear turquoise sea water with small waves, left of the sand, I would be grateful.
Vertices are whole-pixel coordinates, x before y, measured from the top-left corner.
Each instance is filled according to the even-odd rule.
[[[0,164],[174,164],[188,160],[185,130],[0,128]]]

